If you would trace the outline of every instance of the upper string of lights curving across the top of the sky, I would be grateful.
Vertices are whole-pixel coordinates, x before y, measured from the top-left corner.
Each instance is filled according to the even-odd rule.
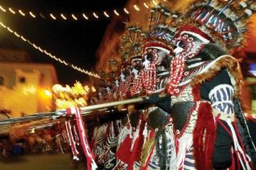
[[[165,1],[165,0],[164,0]],[[156,1],[152,1],[154,5],[156,5]],[[146,2],[143,3],[144,8],[149,8],[149,4]],[[134,4],[133,6],[135,11],[140,11],[142,7],[138,4]],[[6,7],[0,5],[0,10],[4,13],[12,13],[14,15],[19,15],[23,17],[30,17],[30,18],[42,18],[42,19],[51,19],[53,21],[88,21],[92,19],[104,19],[110,18],[110,16],[120,16],[120,13],[124,13],[129,15],[130,11],[127,8],[122,8],[117,10],[113,9],[112,11],[100,11],[100,12],[87,12],[87,13],[36,13],[33,11],[25,11],[22,9],[16,9],[11,7]],[[132,10],[132,9],[131,9]]]

